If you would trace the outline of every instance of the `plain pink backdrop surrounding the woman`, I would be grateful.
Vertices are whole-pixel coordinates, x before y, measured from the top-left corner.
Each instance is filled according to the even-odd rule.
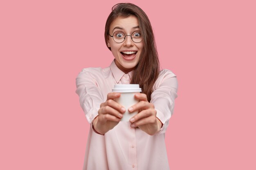
[[[75,78],[113,60],[104,26],[117,0],[0,2],[0,169],[81,170],[89,124]],[[256,169],[254,0],[130,0],[177,75],[166,132],[171,170]]]

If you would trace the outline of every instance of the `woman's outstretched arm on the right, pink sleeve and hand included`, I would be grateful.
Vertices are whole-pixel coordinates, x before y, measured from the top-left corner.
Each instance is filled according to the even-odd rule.
[[[150,103],[145,94],[138,93],[135,97],[140,102],[129,108],[130,112],[139,110],[139,113],[130,119],[131,127],[139,127],[149,135],[154,135],[159,131],[164,133],[168,126],[173,113],[174,99],[177,97],[176,76],[171,71],[165,70],[159,76],[155,86]]]

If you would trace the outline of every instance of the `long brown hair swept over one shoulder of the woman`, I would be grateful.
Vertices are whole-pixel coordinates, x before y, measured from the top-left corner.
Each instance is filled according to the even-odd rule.
[[[126,18],[131,15],[134,15],[138,19],[139,29],[143,38],[142,42],[144,43],[144,50],[141,52],[139,62],[133,70],[130,83],[139,84],[142,93],[147,95],[148,102],[150,102],[153,86],[159,75],[159,60],[153,29],[146,13],[135,4],[119,3],[114,5],[112,7],[112,12],[106,21],[105,41],[108,46],[108,33],[112,22],[119,16]],[[108,49],[111,51],[110,47],[108,47]]]

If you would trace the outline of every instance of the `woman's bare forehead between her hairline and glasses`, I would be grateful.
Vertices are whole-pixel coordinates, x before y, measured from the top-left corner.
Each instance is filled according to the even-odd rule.
[[[120,30],[120,28],[123,31],[132,31],[137,26],[139,26],[138,19],[134,15],[126,18],[119,16],[111,23],[110,32]]]

